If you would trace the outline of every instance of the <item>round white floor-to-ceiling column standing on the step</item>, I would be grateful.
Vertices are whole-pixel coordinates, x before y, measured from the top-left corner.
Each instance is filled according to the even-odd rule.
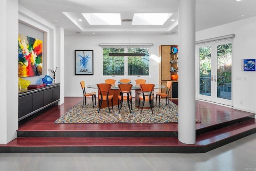
[[[196,142],[195,0],[179,0],[178,139]]]

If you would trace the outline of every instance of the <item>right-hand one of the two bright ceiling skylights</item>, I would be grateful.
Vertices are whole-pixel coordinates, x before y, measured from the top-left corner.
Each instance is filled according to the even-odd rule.
[[[137,13],[133,15],[132,25],[163,25],[170,13]]]

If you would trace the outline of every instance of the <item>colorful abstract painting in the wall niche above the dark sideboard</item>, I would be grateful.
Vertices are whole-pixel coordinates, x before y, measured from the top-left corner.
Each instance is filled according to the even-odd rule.
[[[43,71],[43,41],[19,34],[19,77],[40,76]]]

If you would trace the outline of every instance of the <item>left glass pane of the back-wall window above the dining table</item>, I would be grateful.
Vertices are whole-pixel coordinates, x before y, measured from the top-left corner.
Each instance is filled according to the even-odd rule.
[[[124,56],[108,56],[109,53],[124,53],[124,48],[103,48],[103,76],[123,76]]]

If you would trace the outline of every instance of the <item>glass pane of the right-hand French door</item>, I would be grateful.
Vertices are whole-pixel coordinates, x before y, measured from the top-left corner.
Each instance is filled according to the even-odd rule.
[[[231,100],[232,44],[217,46],[217,97]]]

